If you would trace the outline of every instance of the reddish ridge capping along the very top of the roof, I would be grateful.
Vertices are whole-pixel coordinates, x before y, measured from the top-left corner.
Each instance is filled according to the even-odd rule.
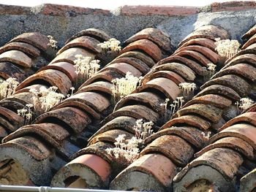
[[[181,7],[181,6],[150,6],[138,5],[118,7],[111,11],[106,9],[91,9],[85,7],[74,7],[59,4],[41,4],[35,7],[22,7],[0,4],[0,15],[53,15],[53,16],[71,16],[76,15],[194,15],[199,12],[222,12],[222,11],[241,11],[246,9],[255,9],[255,1],[230,1],[223,3],[212,3],[205,7]]]

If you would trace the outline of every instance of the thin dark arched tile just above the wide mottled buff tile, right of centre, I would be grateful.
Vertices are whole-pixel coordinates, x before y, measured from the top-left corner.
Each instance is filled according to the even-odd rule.
[[[192,61],[191,59],[188,59],[188,58],[177,56],[177,55],[172,55],[170,57],[162,59],[161,61],[159,61],[157,63],[157,67],[162,64],[167,64],[167,63],[171,63],[171,62],[185,64],[186,66],[188,66],[190,69],[192,69],[196,74],[198,74],[200,76],[203,76],[206,74],[206,69],[203,69],[203,67],[200,64],[197,64],[197,62]],[[157,68],[157,67],[155,67],[155,68]]]

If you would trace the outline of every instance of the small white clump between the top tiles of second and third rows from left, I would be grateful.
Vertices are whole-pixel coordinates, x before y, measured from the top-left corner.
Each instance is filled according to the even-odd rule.
[[[99,43],[98,46],[102,47],[103,54],[111,55],[113,53],[118,53],[121,50],[120,41],[115,38],[109,39],[107,42]]]

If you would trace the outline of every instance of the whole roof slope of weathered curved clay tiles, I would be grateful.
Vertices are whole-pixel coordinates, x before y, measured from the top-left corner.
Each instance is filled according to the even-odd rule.
[[[0,183],[124,191],[253,191],[256,104],[241,112],[235,103],[245,97],[255,101],[256,30],[250,26],[241,31],[247,31],[241,36],[241,51],[227,60],[215,42],[230,39],[232,33],[212,23],[195,28],[177,48],[166,31],[143,28],[122,43],[110,62],[98,45],[111,36],[99,28],[78,31],[58,51],[39,32],[13,37],[0,47],[1,79],[15,77],[20,82],[12,96],[0,101]],[[79,87],[76,55],[102,62],[99,72]],[[208,76],[209,64],[217,66],[213,77]],[[143,79],[116,104],[113,80],[127,72]],[[195,83],[191,94],[181,83]],[[71,96],[40,115],[34,107],[34,121],[26,122],[17,110],[34,104],[29,90],[50,86]],[[163,108],[166,99],[173,106]],[[122,134],[132,138],[140,119],[152,121],[155,134],[146,138],[139,158],[125,167],[106,149],[115,147]]]

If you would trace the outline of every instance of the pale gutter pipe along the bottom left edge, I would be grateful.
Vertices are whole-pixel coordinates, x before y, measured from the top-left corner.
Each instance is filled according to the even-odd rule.
[[[0,185],[0,191],[23,191],[23,192],[62,192],[62,191],[74,191],[74,192],[105,192],[111,190],[99,190],[99,189],[80,189],[80,188],[50,188],[50,187],[27,187],[19,185]],[[117,191],[112,191],[117,192]]]

